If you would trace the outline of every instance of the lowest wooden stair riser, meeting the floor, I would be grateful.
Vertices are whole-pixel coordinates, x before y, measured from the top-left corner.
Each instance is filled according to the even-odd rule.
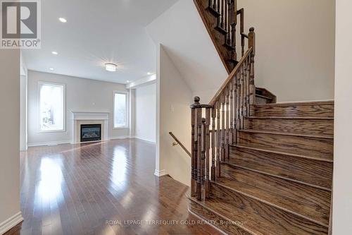
[[[249,232],[237,227],[235,224],[233,224],[231,221],[227,219],[223,219],[216,213],[212,212],[211,210],[208,210],[206,207],[203,207],[199,205],[198,203],[195,203],[193,200],[189,200],[189,210],[196,214],[197,216],[201,217],[202,219],[205,219],[206,221],[210,222],[213,224],[215,227],[218,229],[225,231],[227,234],[234,234],[234,235],[253,235],[250,234]],[[215,224],[214,224],[215,222]]]

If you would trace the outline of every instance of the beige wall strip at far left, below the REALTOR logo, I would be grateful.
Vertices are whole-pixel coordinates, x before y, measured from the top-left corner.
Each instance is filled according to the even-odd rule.
[[[20,212],[20,51],[0,50],[0,234]],[[14,225],[14,224],[12,224]]]

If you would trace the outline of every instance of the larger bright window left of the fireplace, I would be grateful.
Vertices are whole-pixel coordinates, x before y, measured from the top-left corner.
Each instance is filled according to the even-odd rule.
[[[65,131],[65,85],[39,83],[40,131]]]

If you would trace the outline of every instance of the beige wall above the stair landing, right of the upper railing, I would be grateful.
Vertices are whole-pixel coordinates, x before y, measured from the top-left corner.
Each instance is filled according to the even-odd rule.
[[[246,33],[256,29],[256,86],[273,92],[279,102],[334,98],[335,1],[238,4],[244,7]]]

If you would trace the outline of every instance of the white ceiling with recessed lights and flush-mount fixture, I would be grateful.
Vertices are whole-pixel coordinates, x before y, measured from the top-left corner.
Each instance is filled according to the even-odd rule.
[[[116,83],[155,73],[155,45],[145,27],[176,1],[41,1],[42,49],[23,49],[25,64],[30,70]],[[107,62],[118,64],[118,71],[105,71]]]

